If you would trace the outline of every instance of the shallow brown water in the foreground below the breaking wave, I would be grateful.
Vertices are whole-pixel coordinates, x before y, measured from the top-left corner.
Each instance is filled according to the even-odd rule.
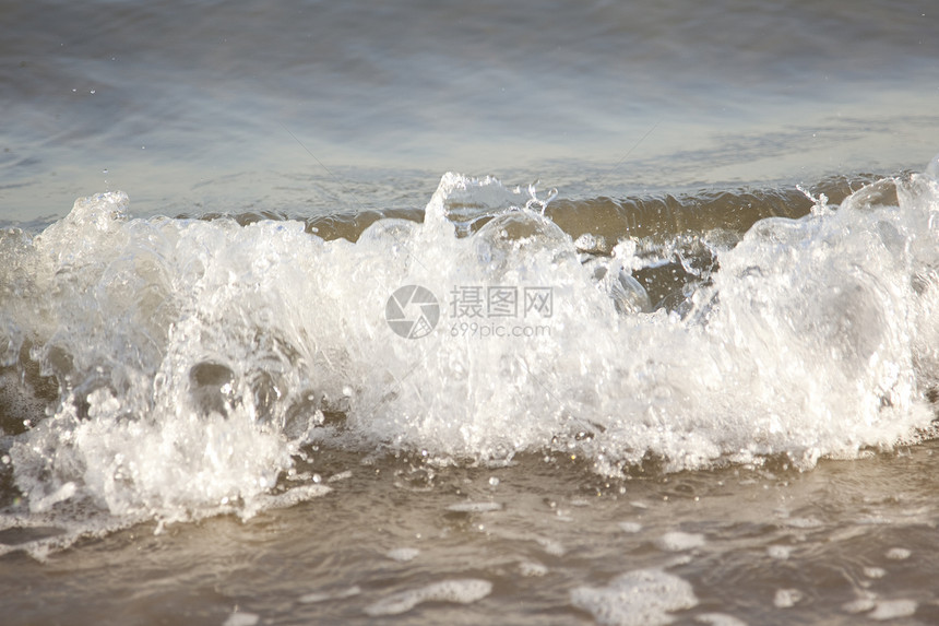
[[[29,593],[4,607],[11,624],[222,624],[235,611],[258,623],[371,623],[368,609],[394,594],[476,579],[492,584],[487,597],[426,602],[400,619],[590,624],[572,590],[649,570],[691,584],[693,605],[669,614],[677,623],[853,624],[891,612],[895,623],[931,623],[935,449],[822,461],[805,473],[734,468],[625,481],[560,458],[435,471],[329,452],[314,469],[350,475],[292,508],[156,535],[141,524],[41,563],[8,555],[4,588]],[[495,506],[453,510],[466,503]],[[649,600],[669,605],[664,594]],[[639,615],[635,603],[611,605]],[[724,622],[705,621],[714,614]]]

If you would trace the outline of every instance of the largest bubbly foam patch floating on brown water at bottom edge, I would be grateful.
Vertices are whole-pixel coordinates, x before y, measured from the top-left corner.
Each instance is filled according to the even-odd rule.
[[[670,612],[691,609],[698,598],[691,584],[657,569],[638,569],[617,576],[606,587],[579,587],[571,603],[593,615],[598,624],[643,626],[670,624]]]

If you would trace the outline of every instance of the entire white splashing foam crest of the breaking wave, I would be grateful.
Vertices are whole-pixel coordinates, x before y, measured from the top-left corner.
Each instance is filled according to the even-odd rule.
[[[81,501],[171,521],[276,506],[264,496],[310,442],[483,463],[547,448],[607,474],[650,453],[666,470],[776,453],[805,469],[889,448],[932,418],[939,182],[880,185],[899,206],[861,190],[714,248],[720,271],[684,317],[618,310],[596,265],[630,277],[649,262],[635,246],[587,268],[543,200],[490,178],[448,174],[423,224],[379,221],[356,244],[300,222],[131,220],[120,192],[81,199],[0,250],[0,283],[16,285],[0,359],[28,336],[70,381],[15,437],[14,483],[36,515]],[[420,340],[384,319],[402,285],[440,302]],[[454,288],[494,285],[550,290],[550,309],[519,320],[550,332],[461,335]]]

